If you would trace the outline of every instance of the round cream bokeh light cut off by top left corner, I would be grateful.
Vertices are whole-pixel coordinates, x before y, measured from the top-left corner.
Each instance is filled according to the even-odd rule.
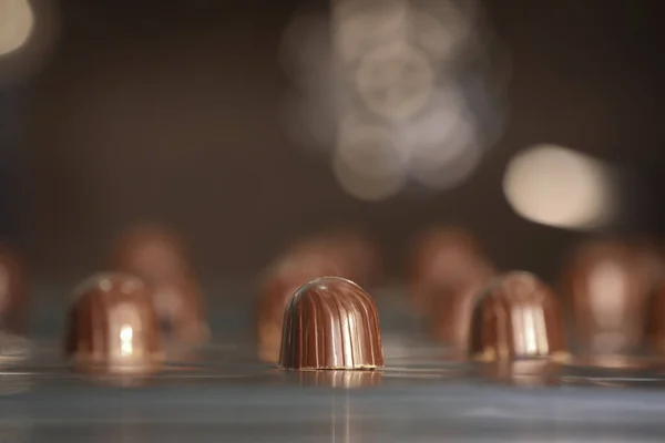
[[[0,56],[23,47],[33,24],[34,14],[28,0],[0,1]]]

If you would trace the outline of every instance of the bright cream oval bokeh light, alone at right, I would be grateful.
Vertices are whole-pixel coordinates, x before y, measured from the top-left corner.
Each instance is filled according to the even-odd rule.
[[[615,217],[614,173],[579,152],[536,145],[508,165],[503,190],[522,217],[543,225],[593,229]]]

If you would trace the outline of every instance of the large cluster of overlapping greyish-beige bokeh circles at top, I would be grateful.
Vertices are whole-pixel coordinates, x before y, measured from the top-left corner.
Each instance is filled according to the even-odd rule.
[[[299,91],[287,99],[287,135],[327,152],[341,188],[357,198],[387,198],[409,182],[432,192],[462,184],[505,123],[494,91],[505,82],[492,79],[497,62],[505,72],[504,60],[484,48],[497,39],[478,2],[330,6],[329,17],[300,13],[285,31],[280,56]],[[389,134],[379,137],[389,142],[350,142],[349,122],[358,119],[375,128],[371,137]]]

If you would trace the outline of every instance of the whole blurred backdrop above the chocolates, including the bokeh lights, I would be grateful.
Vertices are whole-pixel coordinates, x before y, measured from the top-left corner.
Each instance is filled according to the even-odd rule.
[[[439,223],[559,275],[662,234],[663,7],[600,0],[0,0],[0,234],[39,281],[160,222],[204,279],[370,231],[391,276]]]

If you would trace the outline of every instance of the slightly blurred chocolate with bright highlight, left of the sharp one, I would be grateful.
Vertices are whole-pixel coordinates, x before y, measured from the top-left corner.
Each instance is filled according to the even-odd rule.
[[[130,275],[102,274],[84,281],[70,308],[65,353],[74,369],[150,373],[163,359],[150,289]]]

